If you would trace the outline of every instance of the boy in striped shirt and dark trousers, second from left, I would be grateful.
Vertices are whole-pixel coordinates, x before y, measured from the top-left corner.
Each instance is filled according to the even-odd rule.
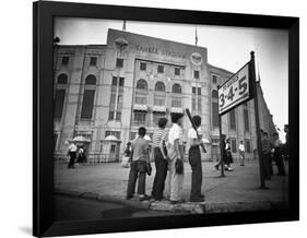
[[[165,179],[167,176],[167,119],[160,118],[157,122],[158,129],[153,133],[152,152],[155,163],[155,177],[152,189],[152,197],[154,200],[160,201],[163,199],[163,191],[165,187]]]

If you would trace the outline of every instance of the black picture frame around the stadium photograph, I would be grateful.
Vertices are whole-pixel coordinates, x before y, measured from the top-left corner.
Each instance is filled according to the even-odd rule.
[[[288,31],[290,206],[270,211],[165,216],[158,219],[54,221],[54,17],[87,17]],[[67,236],[299,219],[299,19],[205,11],[38,1],[33,3],[33,235]],[[125,224],[125,225],[122,225]]]

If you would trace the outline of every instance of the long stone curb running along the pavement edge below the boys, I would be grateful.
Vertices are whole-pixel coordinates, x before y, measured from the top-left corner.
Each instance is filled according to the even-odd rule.
[[[260,210],[280,210],[287,207],[286,201],[224,202],[224,203],[191,203],[169,204],[155,201],[125,200],[118,197],[99,195],[93,192],[78,192],[55,189],[55,194],[90,199],[99,202],[110,202],[129,206],[134,210],[154,210],[181,214],[216,214],[234,212],[252,212]]]

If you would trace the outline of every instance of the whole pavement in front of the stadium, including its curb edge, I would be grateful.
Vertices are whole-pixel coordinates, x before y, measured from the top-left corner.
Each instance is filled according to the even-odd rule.
[[[287,165],[287,163],[286,163]],[[152,176],[146,176],[146,194],[151,194]],[[259,164],[250,160],[246,166],[233,164],[233,171],[221,171],[214,168],[214,163],[202,163],[202,191],[205,202],[172,205],[168,201],[139,202],[135,199],[126,200],[129,168],[122,168],[119,163],[79,165],[75,169],[68,169],[67,165],[55,166],[55,188],[58,194],[69,194],[81,198],[91,198],[107,202],[122,203],[138,209],[151,209],[178,213],[220,213],[271,210],[287,206],[288,179],[273,176],[265,181],[268,190],[259,189]],[[287,166],[286,166],[287,167]],[[276,167],[274,166],[274,174]],[[182,198],[188,201],[191,188],[191,169],[185,163],[185,183]],[[168,178],[166,179],[165,195],[169,194]]]

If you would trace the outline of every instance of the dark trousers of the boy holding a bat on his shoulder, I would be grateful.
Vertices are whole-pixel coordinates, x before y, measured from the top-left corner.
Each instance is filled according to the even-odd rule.
[[[192,186],[190,199],[199,199],[201,197],[202,167],[201,154],[199,146],[191,146],[189,150],[189,163],[192,168]]]

